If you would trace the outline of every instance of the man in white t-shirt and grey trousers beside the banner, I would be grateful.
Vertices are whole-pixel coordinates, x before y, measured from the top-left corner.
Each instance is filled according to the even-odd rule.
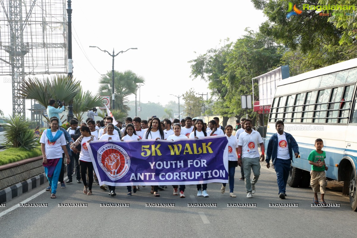
[[[252,198],[255,193],[255,184],[260,176],[260,162],[264,161],[264,144],[260,133],[252,129],[252,120],[247,119],[244,122],[245,131],[241,133],[238,140],[238,165],[244,168],[245,187],[247,198]],[[258,144],[262,151],[259,156]],[[241,158],[242,156],[242,158]],[[253,171],[253,179],[250,180],[250,173]]]

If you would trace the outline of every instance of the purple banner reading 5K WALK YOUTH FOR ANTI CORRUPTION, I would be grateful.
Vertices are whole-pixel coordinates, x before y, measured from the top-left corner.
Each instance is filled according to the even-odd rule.
[[[87,142],[99,183],[111,186],[228,182],[226,136]]]

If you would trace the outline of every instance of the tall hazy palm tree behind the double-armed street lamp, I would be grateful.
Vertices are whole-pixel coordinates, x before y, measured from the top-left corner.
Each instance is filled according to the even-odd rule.
[[[124,72],[114,71],[114,90],[115,90],[115,108],[125,112],[130,111],[130,107],[125,103],[129,102],[127,97],[135,94],[139,83],[144,83],[143,76],[136,75],[131,70]],[[112,72],[108,71],[106,75],[99,80],[101,84],[98,89],[99,95],[112,95]]]

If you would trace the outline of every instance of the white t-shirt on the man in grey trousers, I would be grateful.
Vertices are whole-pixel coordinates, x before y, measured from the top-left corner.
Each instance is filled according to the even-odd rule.
[[[239,136],[238,145],[242,146],[242,158],[260,157],[258,144],[263,143],[260,133],[252,129],[252,133],[242,132]]]

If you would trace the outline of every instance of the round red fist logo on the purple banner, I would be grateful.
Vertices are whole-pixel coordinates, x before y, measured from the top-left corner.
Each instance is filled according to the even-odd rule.
[[[98,150],[98,164],[113,180],[123,177],[130,167],[130,158],[120,146],[106,144]]]

